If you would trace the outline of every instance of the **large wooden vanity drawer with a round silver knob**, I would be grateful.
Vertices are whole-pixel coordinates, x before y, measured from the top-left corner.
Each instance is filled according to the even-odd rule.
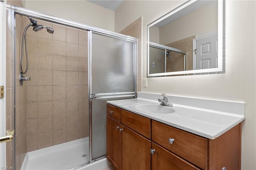
[[[174,139],[172,142],[169,139]],[[207,169],[208,140],[189,132],[152,120],[152,141],[196,166]]]

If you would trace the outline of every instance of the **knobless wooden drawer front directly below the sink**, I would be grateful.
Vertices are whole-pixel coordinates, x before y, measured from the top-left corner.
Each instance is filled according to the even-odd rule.
[[[151,139],[151,120],[121,109],[121,124]]]

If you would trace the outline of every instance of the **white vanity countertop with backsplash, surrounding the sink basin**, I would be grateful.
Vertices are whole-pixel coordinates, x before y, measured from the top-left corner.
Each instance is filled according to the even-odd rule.
[[[228,131],[232,127],[238,125],[245,119],[245,103],[243,102],[217,101],[209,99],[168,96],[168,99],[175,99],[177,101],[176,104],[174,103],[175,101],[172,102],[169,99],[169,102],[173,104],[172,109],[176,110],[176,112],[174,113],[150,113],[132,107],[132,105],[136,103],[159,103],[158,98],[160,98],[160,95],[158,97],[156,96],[156,94],[152,94],[151,97],[145,98],[145,94],[146,93],[139,94],[138,98],[136,99],[107,101],[107,103],[125,109],[127,111],[137,113],[138,115],[142,115],[144,117],[148,117],[150,119],[165,123],[167,125],[171,125],[172,127],[180,128],[182,130],[186,130],[188,132],[210,139],[217,138],[218,136],[222,135],[224,132]],[[148,94],[146,94],[146,96],[147,95]],[[150,100],[149,98],[156,99]],[[179,99],[182,102],[180,102]],[[191,105],[181,105],[181,103],[191,103],[191,101],[197,103],[195,104],[196,107],[192,107]],[[199,101],[200,105],[203,106],[201,108],[198,107],[200,106],[198,105]],[[208,105],[209,108],[207,109]],[[214,107],[216,108],[216,110],[212,110],[212,108]],[[227,111],[229,110],[229,107],[230,112]],[[235,110],[234,107],[236,108]]]

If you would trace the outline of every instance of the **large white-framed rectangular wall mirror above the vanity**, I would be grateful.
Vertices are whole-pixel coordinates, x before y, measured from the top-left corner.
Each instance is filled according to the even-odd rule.
[[[187,1],[148,24],[147,72],[148,77],[224,73],[225,1]]]

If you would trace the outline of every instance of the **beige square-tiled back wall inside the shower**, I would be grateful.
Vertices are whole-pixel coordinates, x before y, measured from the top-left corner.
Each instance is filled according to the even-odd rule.
[[[29,20],[27,20],[27,24]],[[26,151],[89,135],[87,31],[38,20],[28,29]]]

